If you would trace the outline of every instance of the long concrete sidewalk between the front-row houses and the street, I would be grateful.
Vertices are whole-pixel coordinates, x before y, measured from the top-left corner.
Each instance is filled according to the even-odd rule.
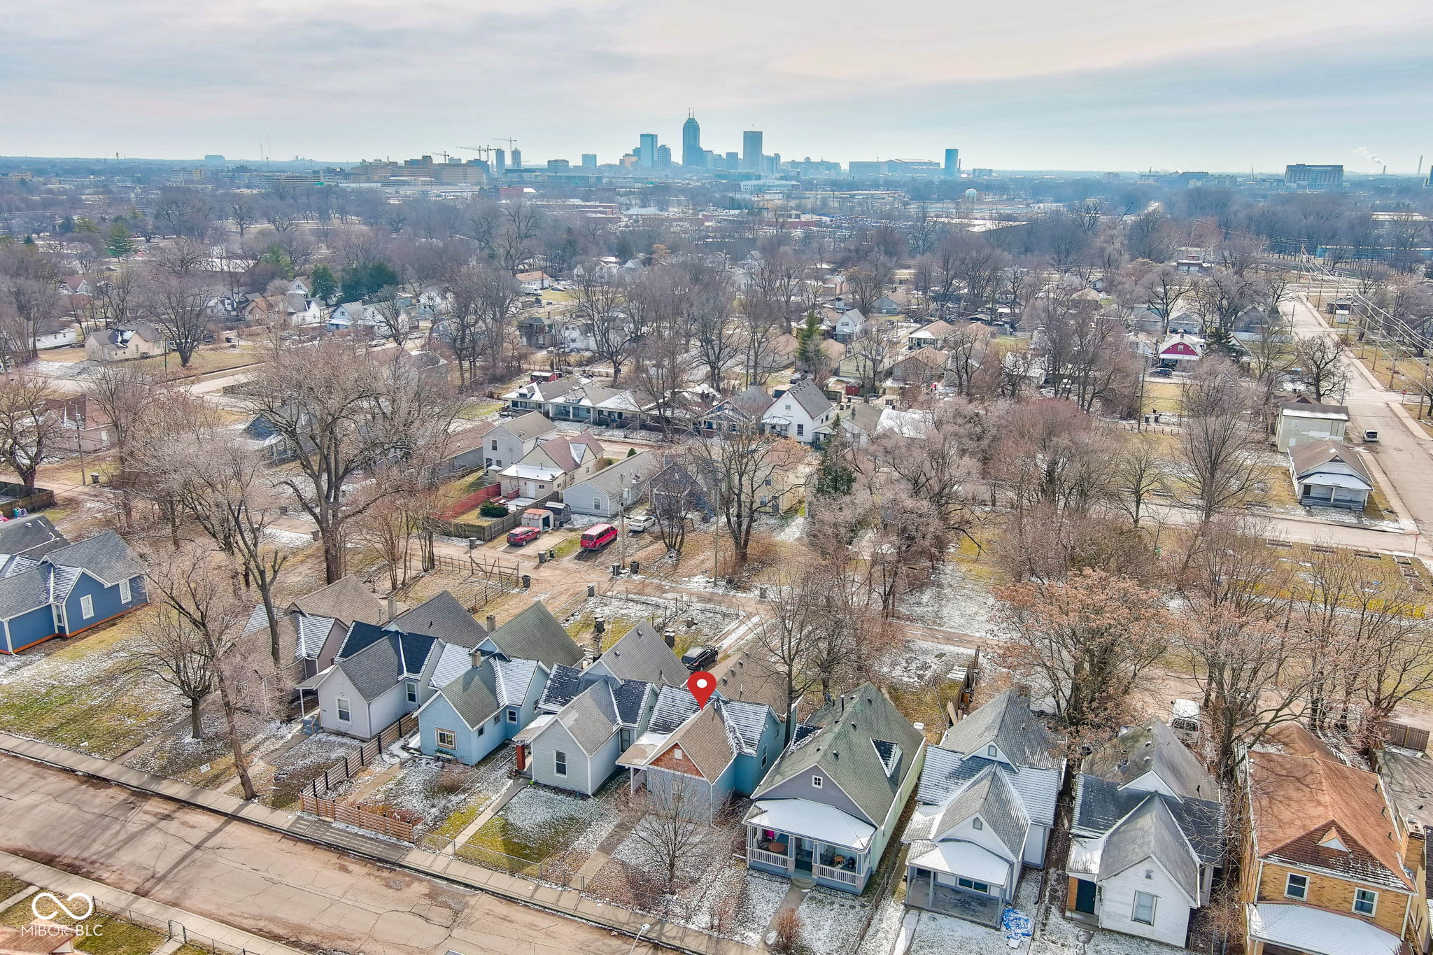
[[[76,753],[39,740],[0,733],[0,753],[103,779],[128,789],[172,799],[232,819],[241,819],[327,849],[347,852],[383,865],[400,868],[414,875],[443,879],[480,892],[492,892],[513,902],[582,919],[632,938],[641,932],[643,941],[681,952],[692,952],[694,955],[757,955],[764,951],[741,945],[739,942],[714,938],[685,925],[663,922],[652,915],[589,899],[572,888],[512,876],[506,872],[471,865],[456,856],[418,849],[380,836],[367,836],[355,829],[331,826],[312,816],[246,803],[225,793],[191,786],[173,779],[163,779],[162,776],[153,776],[110,760]]]

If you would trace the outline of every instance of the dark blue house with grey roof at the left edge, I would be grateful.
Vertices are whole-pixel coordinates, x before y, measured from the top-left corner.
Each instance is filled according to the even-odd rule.
[[[3,653],[72,637],[148,603],[143,567],[115,531],[29,553],[39,550],[44,550],[39,557],[3,554],[0,560]]]

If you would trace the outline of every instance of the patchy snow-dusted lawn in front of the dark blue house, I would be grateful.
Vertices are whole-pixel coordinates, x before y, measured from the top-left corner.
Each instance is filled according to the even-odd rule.
[[[122,673],[120,650],[150,613],[142,607],[13,672],[0,683],[0,730],[112,759],[179,719],[176,693]]]

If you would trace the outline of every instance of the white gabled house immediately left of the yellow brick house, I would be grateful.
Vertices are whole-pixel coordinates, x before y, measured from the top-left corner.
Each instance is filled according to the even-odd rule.
[[[1121,730],[1075,786],[1066,915],[1184,946],[1224,853],[1218,783],[1166,723]]]

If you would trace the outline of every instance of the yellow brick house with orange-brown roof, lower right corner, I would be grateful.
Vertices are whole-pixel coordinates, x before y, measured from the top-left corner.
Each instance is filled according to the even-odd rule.
[[[1241,865],[1248,955],[1404,955],[1429,941],[1424,845],[1377,773],[1308,730],[1244,763]]]

